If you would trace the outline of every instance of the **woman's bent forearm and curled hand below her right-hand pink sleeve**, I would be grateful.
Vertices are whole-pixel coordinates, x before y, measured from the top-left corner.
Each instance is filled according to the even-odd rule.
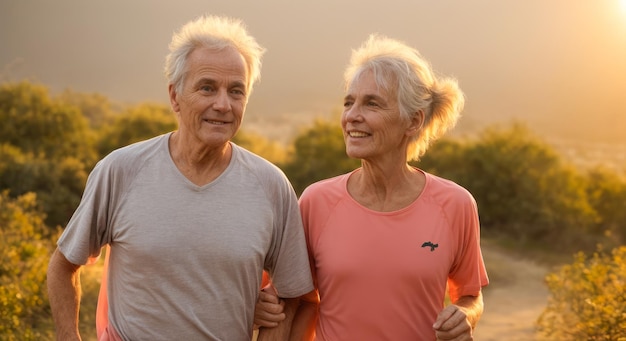
[[[477,296],[462,296],[445,307],[433,324],[437,340],[472,340],[483,309],[482,291]]]

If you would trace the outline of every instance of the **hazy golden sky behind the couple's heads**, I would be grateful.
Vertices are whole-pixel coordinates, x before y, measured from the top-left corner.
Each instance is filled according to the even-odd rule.
[[[624,2],[2,0],[0,81],[166,103],[172,32],[225,14],[267,48],[249,124],[271,129],[339,110],[350,50],[377,32],[459,79],[459,129],[515,118],[543,135],[626,143]]]

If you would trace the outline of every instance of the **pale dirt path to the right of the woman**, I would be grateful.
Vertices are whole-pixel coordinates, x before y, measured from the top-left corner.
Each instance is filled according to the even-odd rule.
[[[483,256],[494,278],[485,289],[485,312],[475,340],[535,340],[534,324],[548,297],[543,281],[548,268],[489,246],[483,247]]]

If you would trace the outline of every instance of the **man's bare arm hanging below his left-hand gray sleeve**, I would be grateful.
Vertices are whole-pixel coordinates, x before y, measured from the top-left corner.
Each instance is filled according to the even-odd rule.
[[[80,265],[71,263],[56,249],[48,264],[48,296],[57,340],[80,340]]]

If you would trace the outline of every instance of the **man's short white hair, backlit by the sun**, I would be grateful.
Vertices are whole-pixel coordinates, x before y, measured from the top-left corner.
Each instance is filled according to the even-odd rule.
[[[261,57],[265,49],[248,34],[239,19],[204,15],[183,25],[172,36],[170,53],[165,59],[165,77],[176,92],[182,91],[187,72],[187,57],[197,48],[221,50],[234,47],[245,60],[248,71],[247,95],[261,77]]]

